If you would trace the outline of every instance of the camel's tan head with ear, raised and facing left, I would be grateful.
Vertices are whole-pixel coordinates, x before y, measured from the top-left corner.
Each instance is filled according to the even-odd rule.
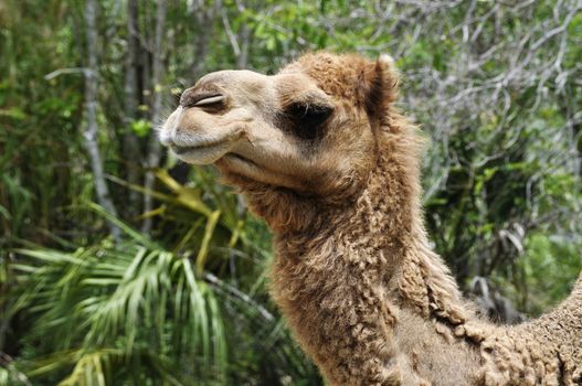
[[[315,53],[275,75],[220,71],[183,92],[160,140],[243,192],[338,202],[375,163],[395,85],[389,56]]]

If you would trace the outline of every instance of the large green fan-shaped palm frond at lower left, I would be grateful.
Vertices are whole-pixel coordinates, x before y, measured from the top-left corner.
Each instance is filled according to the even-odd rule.
[[[171,352],[177,363],[152,367],[156,378],[169,384],[176,384],[170,374],[186,366],[207,379],[224,377],[221,311],[188,258],[136,243],[74,253],[18,253],[28,257],[13,269],[25,289],[19,308],[34,320],[29,339],[42,339],[53,350],[83,350],[63,385],[80,384],[73,380],[105,368],[114,353],[103,347],[115,347],[116,355],[131,357],[138,366],[145,363],[136,353],[146,349],[151,353],[148,362],[156,357],[162,363]],[[103,377],[91,379],[87,385],[110,385]]]

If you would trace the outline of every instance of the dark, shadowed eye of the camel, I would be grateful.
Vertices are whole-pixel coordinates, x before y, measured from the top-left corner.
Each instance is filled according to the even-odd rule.
[[[334,112],[334,108],[324,105],[294,104],[286,115],[293,124],[293,132],[301,139],[317,139],[322,135],[322,124]]]

